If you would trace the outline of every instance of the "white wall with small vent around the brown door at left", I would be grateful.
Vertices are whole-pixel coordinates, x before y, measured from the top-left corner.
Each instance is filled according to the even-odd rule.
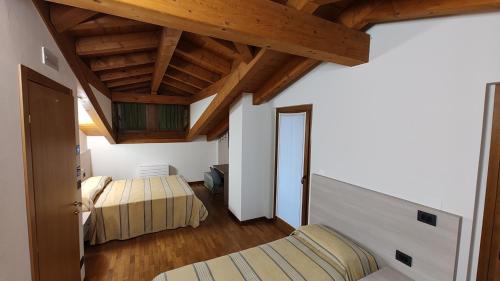
[[[0,280],[31,280],[21,147],[19,64],[73,89],[77,81],[29,0],[0,0]],[[41,63],[41,46],[59,71]],[[76,132],[75,132],[76,133]],[[7,227],[8,226],[8,227]]]

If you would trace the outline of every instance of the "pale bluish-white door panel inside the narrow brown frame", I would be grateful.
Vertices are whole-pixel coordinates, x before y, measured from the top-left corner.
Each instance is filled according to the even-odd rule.
[[[306,117],[278,114],[276,216],[294,228],[302,225]]]

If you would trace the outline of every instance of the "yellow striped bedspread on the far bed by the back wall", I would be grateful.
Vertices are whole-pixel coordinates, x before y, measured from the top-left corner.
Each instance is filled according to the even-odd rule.
[[[112,181],[92,210],[90,243],[198,227],[207,216],[207,209],[181,176]]]

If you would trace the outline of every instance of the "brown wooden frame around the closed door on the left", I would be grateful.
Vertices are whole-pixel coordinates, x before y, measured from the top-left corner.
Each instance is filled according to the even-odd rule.
[[[36,226],[36,209],[35,209],[35,189],[33,186],[33,161],[31,153],[31,134],[30,134],[30,120],[29,120],[29,87],[28,83],[34,82],[45,87],[57,90],[59,92],[73,96],[73,91],[66,86],[63,86],[42,74],[34,71],[33,69],[20,65],[20,103],[21,103],[21,133],[22,133],[22,149],[23,149],[23,163],[24,163],[24,188],[26,199],[26,214],[28,220],[28,239],[31,260],[31,279],[39,281],[40,276],[38,272],[38,239],[37,239],[37,226]]]

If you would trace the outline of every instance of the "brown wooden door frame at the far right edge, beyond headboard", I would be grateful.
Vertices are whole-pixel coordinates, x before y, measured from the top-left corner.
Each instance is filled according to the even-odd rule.
[[[481,247],[479,250],[479,261],[477,267],[477,281],[488,281],[491,266],[491,247],[495,227],[495,213],[498,194],[500,193],[499,170],[500,170],[500,85],[495,85],[493,121],[491,129],[491,143],[488,160],[488,175],[486,183],[486,195],[484,203],[483,227],[481,234]]]

